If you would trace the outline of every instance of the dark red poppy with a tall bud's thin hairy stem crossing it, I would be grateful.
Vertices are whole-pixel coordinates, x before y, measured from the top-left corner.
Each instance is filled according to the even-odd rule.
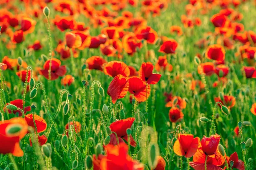
[[[50,68],[50,59],[44,63],[44,69],[39,71],[39,74],[43,75],[45,78],[49,79],[49,68]],[[58,79],[66,74],[67,69],[65,65],[61,65],[61,61],[58,59],[52,59],[51,67],[51,80]]]

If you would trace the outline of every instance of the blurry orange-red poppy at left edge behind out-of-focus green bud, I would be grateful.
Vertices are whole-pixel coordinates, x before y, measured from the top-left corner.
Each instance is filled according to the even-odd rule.
[[[15,132],[11,128],[15,128]],[[12,118],[0,122],[0,153],[12,153],[13,156],[23,156],[20,139],[28,131],[28,125],[23,118]]]

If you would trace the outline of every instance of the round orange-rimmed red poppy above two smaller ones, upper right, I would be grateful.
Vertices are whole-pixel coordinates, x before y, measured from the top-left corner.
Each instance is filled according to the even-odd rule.
[[[225,59],[225,53],[226,52],[221,45],[215,44],[215,45],[210,45],[207,48],[205,55],[208,59],[223,61]]]

